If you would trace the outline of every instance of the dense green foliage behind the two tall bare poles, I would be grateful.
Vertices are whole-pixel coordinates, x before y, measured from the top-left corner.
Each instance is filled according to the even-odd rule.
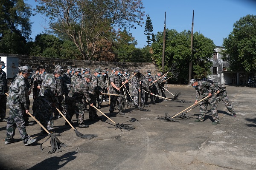
[[[210,75],[212,53],[215,48],[213,41],[204,37],[203,34],[194,34],[193,55],[191,55],[191,32],[166,29],[166,48],[165,48],[165,67],[164,72],[168,71],[174,63],[179,72],[179,76],[173,81],[179,83],[187,82],[189,78],[189,62],[192,61],[192,77],[201,79]],[[161,68],[163,54],[163,32],[158,32],[156,41],[152,43],[152,59]],[[171,74],[169,74],[171,76]]]

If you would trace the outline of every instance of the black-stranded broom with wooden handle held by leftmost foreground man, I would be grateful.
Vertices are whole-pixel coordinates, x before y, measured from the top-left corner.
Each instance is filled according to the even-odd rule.
[[[6,93],[6,96],[9,96],[9,94]],[[31,113],[28,112],[28,114],[29,114],[29,116],[31,116],[36,122],[38,122],[38,124],[48,133],[49,138],[51,138],[51,142],[50,142],[50,143],[51,143],[52,150],[50,150],[48,153],[55,153],[55,152],[59,153],[59,152],[63,151],[63,150],[61,149],[61,147],[67,147],[64,143],[62,143],[62,142],[57,138],[57,136],[55,136],[54,134],[50,133],[37,119],[35,119],[35,117],[32,116]],[[47,142],[49,138],[47,138],[44,142]],[[43,143],[44,143],[44,142],[43,142]],[[41,148],[42,151],[43,151],[43,149],[42,149],[43,143],[41,143],[41,145],[40,145],[40,148]],[[44,151],[43,151],[43,152],[44,152]]]

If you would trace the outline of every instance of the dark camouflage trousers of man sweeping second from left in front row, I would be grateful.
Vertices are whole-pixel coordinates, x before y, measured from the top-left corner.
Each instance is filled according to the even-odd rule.
[[[46,96],[38,97],[38,113],[40,123],[47,129],[53,129],[52,101]],[[43,128],[41,128],[43,130]]]

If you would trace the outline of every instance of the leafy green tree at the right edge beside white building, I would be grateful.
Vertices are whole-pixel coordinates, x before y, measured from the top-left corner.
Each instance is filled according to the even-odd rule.
[[[233,31],[224,38],[223,59],[233,71],[256,71],[256,15],[241,17]]]

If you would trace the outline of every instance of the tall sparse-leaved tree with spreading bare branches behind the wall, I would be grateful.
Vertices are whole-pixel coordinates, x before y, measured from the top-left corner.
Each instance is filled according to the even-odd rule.
[[[97,41],[108,39],[113,28],[141,26],[142,0],[38,0],[37,11],[49,17],[55,33],[66,34],[84,60],[95,55]]]

